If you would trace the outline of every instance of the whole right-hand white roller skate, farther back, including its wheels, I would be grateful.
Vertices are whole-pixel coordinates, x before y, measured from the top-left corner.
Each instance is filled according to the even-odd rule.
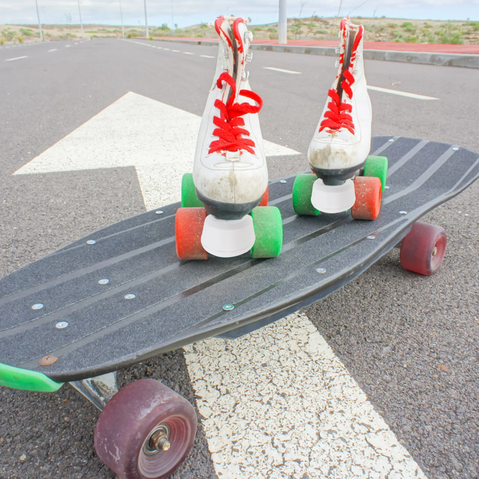
[[[371,100],[363,63],[363,25],[341,21],[338,73],[308,148],[314,175],[300,174],[293,188],[296,213],[340,213],[376,219],[386,183],[388,160],[368,156]]]

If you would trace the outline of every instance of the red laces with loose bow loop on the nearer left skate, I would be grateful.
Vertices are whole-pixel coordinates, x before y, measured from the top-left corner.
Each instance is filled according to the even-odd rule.
[[[258,113],[261,110],[263,101],[261,97],[253,91],[240,90],[239,96],[250,98],[254,100],[257,105],[235,103],[236,84],[233,78],[229,73],[223,72],[216,82],[218,88],[223,88],[223,81],[231,87],[231,95],[226,104],[218,99],[215,101],[215,106],[220,111],[220,116],[213,118],[213,123],[217,126],[217,128],[213,130],[213,135],[219,137],[219,139],[211,142],[208,153],[219,150],[238,151],[244,149],[254,155],[254,141],[241,136],[246,135],[249,137],[250,132],[245,128],[241,128],[241,126],[244,126],[244,118],[240,117],[247,113]]]

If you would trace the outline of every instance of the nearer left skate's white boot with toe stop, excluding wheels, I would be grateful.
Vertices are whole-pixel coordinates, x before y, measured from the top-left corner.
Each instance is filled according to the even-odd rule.
[[[254,244],[249,213],[268,185],[268,171],[258,119],[259,95],[251,91],[246,62],[252,39],[241,18],[215,22],[219,51],[215,77],[201,119],[193,182],[204,203],[201,244],[216,256],[237,256]]]

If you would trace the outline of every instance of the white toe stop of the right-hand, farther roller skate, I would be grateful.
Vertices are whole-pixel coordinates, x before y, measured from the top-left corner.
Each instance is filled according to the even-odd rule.
[[[323,213],[341,213],[351,208],[355,201],[354,182],[351,179],[332,186],[324,184],[321,178],[313,183],[311,203]]]

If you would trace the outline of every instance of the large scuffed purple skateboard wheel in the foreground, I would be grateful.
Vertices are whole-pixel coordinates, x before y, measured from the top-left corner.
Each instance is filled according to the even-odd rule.
[[[159,381],[140,379],[106,404],[95,427],[95,450],[121,479],[168,478],[191,449],[196,423],[186,399]]]

